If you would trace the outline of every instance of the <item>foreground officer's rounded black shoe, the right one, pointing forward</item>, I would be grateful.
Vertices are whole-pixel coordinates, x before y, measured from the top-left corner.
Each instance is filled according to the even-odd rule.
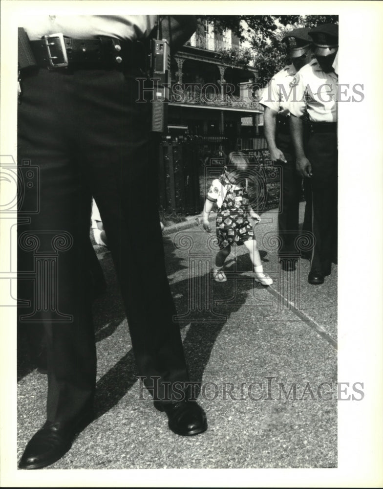
[[[199,435],[208,429],[205,411],[195,401],[182,400],[156,405],[169,418],[169,428],[181,436]]]

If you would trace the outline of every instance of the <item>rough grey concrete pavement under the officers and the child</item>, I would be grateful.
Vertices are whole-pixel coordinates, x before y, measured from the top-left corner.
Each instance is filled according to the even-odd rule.
[[[261,218],[256,237],[271,287],[254,281],[244,246],[234,247],[228,281],[218,284],[214,232],[176,225],[164,234],[190,375],[202,382],[209,422],[196,437],[173,434],[140,388],[111,256],[97,248],[108,284],[94,304],[97,417],[44,470],[337,466],[337,267],[320,286],[308,284],[307,260],[281,271],[271,239],[277,211]],[[46,388],[36,370],[18,383],[18,457],[44,422]]]

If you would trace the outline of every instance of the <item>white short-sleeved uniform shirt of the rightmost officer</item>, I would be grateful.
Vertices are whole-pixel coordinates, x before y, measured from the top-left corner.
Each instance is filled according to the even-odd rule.
[[[300,117],[307,108],[313,122],[337,122],[338,75],[325,73],[317,60],[302,67],[297,74],[294,99],[290,99],[290,112]]]

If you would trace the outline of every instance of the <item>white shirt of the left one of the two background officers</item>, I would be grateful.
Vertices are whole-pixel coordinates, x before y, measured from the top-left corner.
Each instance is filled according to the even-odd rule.
[[[262,91],[259,103],[278,112],[278,115],[290,115],[288,98],[292,90],[290,84],[294,83],[296,73],[294,65],[286,66],[278,71]]]

